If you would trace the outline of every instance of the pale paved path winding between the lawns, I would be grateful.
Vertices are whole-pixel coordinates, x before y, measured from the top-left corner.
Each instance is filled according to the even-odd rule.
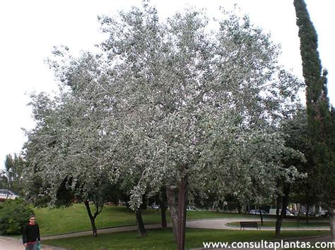
[[[236,221],[257,221],[257,219],[247,219],[247,218],[224,218],[224,219],[210,219],[210,220],[188,220],[186,223],[187,227],[192,227],[192,228],[206,228],[206,229],[224,229],[224,230],[239,230],[240,227],[233,227],[233,226],[228,226],[226,223],[233,223]],[[264,220],[264,221],[271,221],[271,220]],[[172,225],[170,223],[167,224],[168,227],[171,227]],[[151,225],[146,225],[146,229],[154,229],[154,228],[160,228],[160,224],[151,224]],[[129,231],[134,231],[137,230],[136,225],[131,225],[131,226],[124,226],[124,227],[110,227],[110,228],[105,228],[105,229],[99,229],[98,230],[98,235],[99,234],[105,234],[105,233],[110,233],[110,232],[129,232]],[[248,230],[256,230],[249,228]],[[262,227],[262,230],[274,230],[274,228],[271,227]],[[312,227],[312,228],[305,228],[305,227],[286,227],[282,228],[282,230],[329,230],[327,227]],[[88,236],[92,235],[92,231],[83,231],[83,232],[74,232],[74,233],[69,233],[69,234],[64,234],[64,235],[52,235],[52,236],[47,236],[47,237],[41,237],[41,241],[45,239],[64,239],[64,238],[69,238],[69,237],[79,237],[79,236]],[[312,242],[312,238],[309,241]],[[320,238],[318,237],[316,241],[323,242],[323,241],[328,241],[330,237],[324,237]],[[0,250],[19,250],[19,249],[24,249],[22,242],[19,239],[14,239],[11,237],[0,237]],[[46,250],[64,250],[59,247],[54,247],[54,246],[46,246],[42,244],[42,249]]]

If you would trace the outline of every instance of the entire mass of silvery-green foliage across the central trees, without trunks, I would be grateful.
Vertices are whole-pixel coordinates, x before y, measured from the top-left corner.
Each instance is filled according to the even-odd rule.
[[[300,154],[286,148],[277,128],[300,82],[278,65],[278,48],[248,18],[216,22],[211,30],[195,10],[161,22],[144,4],[100,17],[109,35],[100,54],[55,51],[61,59],[50,63],[61,94],[45,106],[33,102],[42,125],[30,132],[50,194],[63,180],[73,188],[84,183],[87,194],[102,176],[122,178],[136,208],[143,194],[177,185],[185,174],[192,189],[222,196],[254,194],[254,182],[273,193],[276,177],[294,180],[295,168],[283,168],[281,158]],[[33,138],[43,135],[55,146],[33,149]]]

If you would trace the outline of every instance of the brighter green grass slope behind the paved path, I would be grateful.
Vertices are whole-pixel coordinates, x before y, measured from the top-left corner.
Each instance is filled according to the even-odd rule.
[[[42,236],[58,235],[66,232],[90,230],[90,220],[83,204],[74,204],[69,208],[34,208],[37,223]],[[259,215],[239,215],[232,213],[188,211],[187,220],[205,218],[259,218]],[[160,223],[160,211],[147,209],[143,211],[143,221],[146,224]],[[167,213],[167,221],[170,215]],[[122,206],[105,206],[98,215],[95,225],[98,228],[116,227],[121,225],[136,225],[135,215]]]

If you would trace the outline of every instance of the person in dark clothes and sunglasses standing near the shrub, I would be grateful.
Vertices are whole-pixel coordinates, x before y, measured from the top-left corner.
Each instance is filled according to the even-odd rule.
[[[25,250],[37,250],[40,245],[40,227],[35,223],[35,215],[30,215],[28,225],[23,227],[23,246]]]

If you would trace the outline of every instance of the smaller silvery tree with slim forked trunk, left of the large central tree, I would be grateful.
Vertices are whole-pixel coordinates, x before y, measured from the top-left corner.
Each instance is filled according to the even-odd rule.
[[[81,113],[79,105],[82,103],[63,94],[54,101],[44,94],[32,96],[37,127],[29,132],[25,145],[30,162],[26,169],[26,186],[28,190],[35,189],[32,180],[41,180],[39,192],[49,198],[43,197],[51,206],[69,206],[74,198],[83,201],[93,236],[97,236],[95,218],[107,201],[110,184],[100,161],[99,131],[90,123],[92,117]],[[28,197],[34,201],[36,193],[28,192]],[[94,213],[90,202],[95,206]]]

